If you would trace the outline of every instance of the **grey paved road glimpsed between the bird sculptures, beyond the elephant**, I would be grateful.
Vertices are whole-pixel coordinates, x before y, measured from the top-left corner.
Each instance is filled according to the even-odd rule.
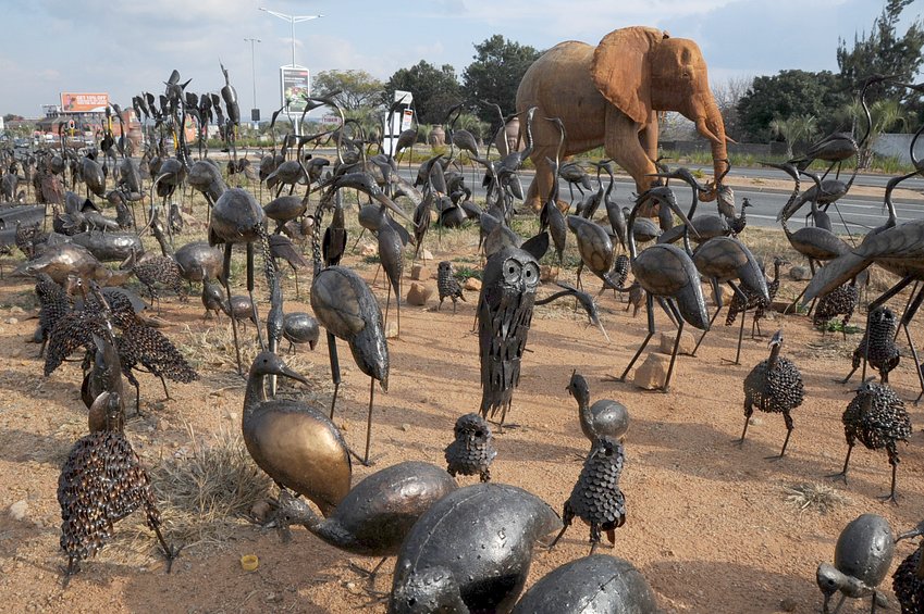
[[[706,173],[711,172],[711,168],[705,168]],[[407,171],[406,167],[402,167],[401,174],[403,177],[409,180],[414,180],[411,174]],[[788,178],[781,171],[774,172],[773,168],[763,170],[763,168],[747,168],[741,171],[741,175],[747,175],[749,177],[763,177],[767,179],[783,179]],[[416,177],[416,171],[414,171],[414,176]],[[865,186],[879,186],[885,187],[886,181],[888,181],[889,177],[882,175],[858,175],[857,181],[854,185],[865,185]],[[529,187],[529,183],[532,180],[531,174],[523,174],[522,183],[523,188]],[[863,181],[861,184],[861,180]],[[466,173],[466,181],[469,186],[473,186],[476,198],[484,198],[484,190],[481,186],[481,175],[477,176],[477,180],[472,180],[471,171]],[[915,189],[916,186],[921,186],[924,189],[924,180],[922,179],[909,179],[905,183],[902,183],[901,187]],[[803,183],[803,187],[805,184]],[[625,177],[617,177],[616,185],[614,186],[614,198],[617,202],[625,203],[626,205],[630,204],[633,200],[632,195],[635,193],[636,185],[635,181]],[[748,198],[753,206],[748,209],[748,223],[753,226],[759,227],[774,227],[779,228],[779,223],[776,222],[777,213],[783,209],[783,205],[789,199],[791,190],[780,190],[773,188],[757,188],[757,187],[736,187],[735,188],[735,197],[736,202],[739,204],[743,198]],[[568,199],[568,185],[564,181],[560,185],[560,198]],[[575,191],[576,200],[580,198],[580,195]],[[677,200],[681,205],[690,202],[690,190],[686,187],[677,188]],[[924,216],[924,200],[913,200],[913,199],[892,199],[892,202],[896,205],[896,212],[898,214],[898,222],[909,222],[911,220],[916,220]],[[698,212],[700,213],[715,213],[715,205],[713,203],[700,203],[698,208]],[[790,221],[789,227],[792,229],[799,228],[804,225],[804,213],[808,213],[809,208],[805,205],[800,213],[797,213],[792,220]],[[880,225],[886,220],[886,213],[883,211],[883,199],[880,197],[863,197],[863,196],[851,196],[848,195],[847,198],[841,199],[837,203],[837,208],[834,206],[828,210],[829,215],[831,216],[831,222],[835,225],[835,231],[843,231],[843,226],[840,224],[840,216],[843,217],[843,221],[847,224],[847,227],[851,233],[865,233],[866,229],[876,227]]]

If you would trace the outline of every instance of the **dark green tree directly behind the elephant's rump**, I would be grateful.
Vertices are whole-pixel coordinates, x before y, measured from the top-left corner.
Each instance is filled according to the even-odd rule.
[[[475,62],[463,72],[468,99],[472,102],[495,102],[504,113],[513,113],[520,79],[541,52],[528,45],[507,40],[500,34],[476,45],[475,51]],[[478,116],[492,125],[497,121],[496,111],[490,106],[479,105]]]

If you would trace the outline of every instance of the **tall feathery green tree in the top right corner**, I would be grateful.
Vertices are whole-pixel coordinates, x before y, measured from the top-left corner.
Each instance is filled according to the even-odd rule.
[[[904,35],[899,36],[897,25],[904,8],[913,0],[886,0],[883,12],[873,20],[870,34],[855,34],[852,47],[843,39],[838,40],[837,64],[840,76],[853,91],[860,89],[870,75],[896,75],[910,83],[921,68],[924,57],[924,23],[914,18]],[[900,101],[916,100],[903,88],[879,84],[870,88],[866,99],[872,103],[886,98]]]

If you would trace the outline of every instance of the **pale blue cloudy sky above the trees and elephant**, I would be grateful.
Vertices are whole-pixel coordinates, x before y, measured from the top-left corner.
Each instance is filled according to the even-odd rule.
[[[61,91],[108,91],[128,105],[159,93],[171,70],[193,91],[231,72],[242,115],[279,105],[279,66],[291,59],[289,24],[259,7],[323,18],[295,26],[299,64],[313,73],[362,68],[383,80],[424,59],[459,76],[473,45],[494,34],[546,49],[563,40],[597,42],[612,29],[654,26],[699,42],[713,85],[780,70],[837,71],[838,37],[853,40],[882,12],[882,0],[32,0],[7,3],[0,47],[0,113],[40,114]],[[922,13],[924,0],[904,11]],[[903,27],[901,28],[903,32]]]

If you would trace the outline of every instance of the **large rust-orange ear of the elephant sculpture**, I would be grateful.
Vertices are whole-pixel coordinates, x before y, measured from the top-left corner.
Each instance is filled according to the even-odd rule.
[[[596,89],[632,121],[643,124],[651,115],[649,52],[667,38],[655,28],[633,26],[613,30],[593,52],[590,73]]]

